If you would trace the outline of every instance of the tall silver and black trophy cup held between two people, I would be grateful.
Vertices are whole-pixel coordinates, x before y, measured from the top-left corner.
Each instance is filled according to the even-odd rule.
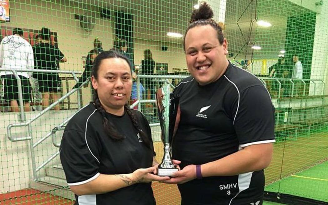
[[[174,96],[170,92],[169,84],[157,90],[156,105],[162,131],[162,141],[164,143],[164,156],[162,163],[158,165],[157,174],[158,176],[171,176],[172,173],[178,171],[178,168],[172,162],[171,143],[179,106],[179,97]]]

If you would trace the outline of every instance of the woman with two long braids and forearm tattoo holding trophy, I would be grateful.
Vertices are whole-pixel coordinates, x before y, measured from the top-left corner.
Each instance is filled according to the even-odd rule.
[[[60,159],[76,205],[154,205],[157,162],[145,116],[127,106],[131,65],[116,51],[93,62],[93,102],[67,124]]]

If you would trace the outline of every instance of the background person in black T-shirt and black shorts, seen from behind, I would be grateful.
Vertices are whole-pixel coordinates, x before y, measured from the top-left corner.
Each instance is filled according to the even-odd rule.
[[[59,70],[57,63],[66,62],[64,54],[50,43],[50,30],[42,28],[39,32],[41,43],[33,47],[34,65],[41,70]],[[43,109],[49,106],[49,101],[57,101],[58,92],[61,92],[61,80],[58,73],[33,73],[33,77],[38,80],[39,91],[42,93]],[[59,104],[54,110],[59,110]]]

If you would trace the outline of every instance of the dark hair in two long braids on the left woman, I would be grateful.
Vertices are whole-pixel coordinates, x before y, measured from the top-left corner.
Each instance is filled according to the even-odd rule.
[[[92,67],[92,75],[93,77],[97,80],[98,79],[98,70],[100,67],[100,64],[102,62],[103,59],[107,59],[107,58],[121,58],[124,59],[128,64],[129,67],[131,69],[131,63],[129,61],[129,59],[124,56],[123,54],[116,52],[116,51],[104,51],[102,53],[100,53],[93,62],[93,67]],[[126,137],[119,133],[117,131],[117,129],[115,129],[115,125],[113,124],[113,122],[111,122],[110,120],[107,119],[106,117],[106,110],[104,109],[104,107],[102,106],[98,94],[97,94],[97,90],[94,91],[93,93],[93,104],[96,107],[97,111],[102,115],[102,120],[103,120],[103,128],[105,130],[105,133],[108,135],[108,137],[114,139],[114,140],[124,140]],[[127,114],[130,116],[132,124],[134,126],[134,128],[136,130],[138,130],[140,138],[143,140],[143,142],[145,143],[145,145],[150,148],[151,147],[151,140],[150,137],[147,137],[146,133],[143,132],[139,126],[137,117],[133,114],[132,109],[125,104],[124,105],[124,110],[127,112]]]

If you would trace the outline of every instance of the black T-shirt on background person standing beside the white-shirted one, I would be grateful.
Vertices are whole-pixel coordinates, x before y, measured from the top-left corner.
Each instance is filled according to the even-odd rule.
[[[64,54],[50,43],[39,43],[33,47],[34,66],[42,70],[59,70],[57,63],[64,58]],[[33,73],[39,80],[59,80],[58,73]]]

